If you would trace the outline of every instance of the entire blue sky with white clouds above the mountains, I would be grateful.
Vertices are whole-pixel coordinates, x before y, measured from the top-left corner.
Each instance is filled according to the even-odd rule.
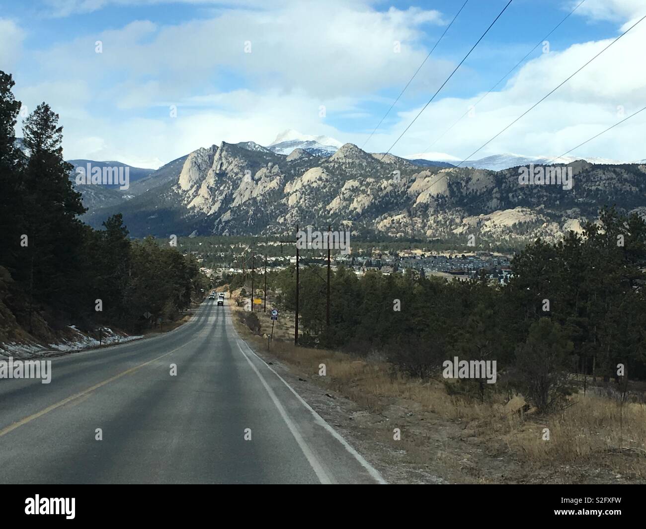
[[[464,0],[0,0],[0,70],[59,114],[68,160],[156,169],[286,129],[463,160],[646,15],[585,0],[543,46],[581,0],[513,0],[395,143],[507,1],[468,0],[372,136]],[[558,156],[639,110],[644,50],[646,20],[472,158]],[[643,160],[645,137],[646,111],[570,156]]]

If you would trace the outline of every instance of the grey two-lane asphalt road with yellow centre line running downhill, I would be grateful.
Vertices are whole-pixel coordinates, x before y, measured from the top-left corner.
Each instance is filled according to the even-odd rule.
[[[0,379],[2,483],[382,481],[216,300],[170,333],[51,369],[50,384]]]

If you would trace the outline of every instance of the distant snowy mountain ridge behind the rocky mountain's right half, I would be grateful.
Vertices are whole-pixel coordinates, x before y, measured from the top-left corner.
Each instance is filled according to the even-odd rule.
[[[449,155],[446,155],[446,158],[443,158],[442,154],[437,152],[411,154],[410,156],[406,156],[406,158],[408,160],[419,159],[445,161],[453,165],[457,165],[462,161],[459,158],[455,158],[455,156]],[[478,160],[467,160],[464,161],[460,165],[460,167],[489,169],[490,171],[503,171],[504,169],[518,167],[519,165],[529,165],[530,163],[533,163],[534,165],[548,165],[550,163],[572,163],[576,160],[585,160],[589,161],[590,163],[596,163],[598,165],[618,165],[621,163],[632,163],[618,160],[609,160],[607,158],[581,158],[581,156],[562,156],[561,158],[556,158],[556,156],[524,156],[523,154],[505,152],[503,154],[494,154],[492,156],[486,156],[485,158],[479,158]]]

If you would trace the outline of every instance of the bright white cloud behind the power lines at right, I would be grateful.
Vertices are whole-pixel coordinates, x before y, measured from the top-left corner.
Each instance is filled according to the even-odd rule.
[[[475,149],[521,116],[611,41],[579,43],[563,52],[541,54],[530,60],[505,87],[479,103],[473,116],[465,117],[446,134],[444,131],[484,94],[433,102],[393,149],[394,154],[427,152],[432,148],[461,159],[470,157]],[[557,156],[641,109],[646,101],[646,70],[640,67],[645,48],[646,21],[495,138],[475,158],[501,152]],[[419,108],[400,112],[399,123],[389,132],[375,135],[370,146],[375,150],[388,149],[417,112]],[[627,161],[645,158],[641,139],[645,118],[641,114],[636,116],[572,155]],[[436,141],[438,138],[441,139]]]

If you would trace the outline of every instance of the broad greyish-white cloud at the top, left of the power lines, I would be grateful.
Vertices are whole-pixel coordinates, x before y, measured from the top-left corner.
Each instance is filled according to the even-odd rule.
[[[271,12],[224,10],[178,25],[135,21],[54,46],[39,54],[39,62],[49,75],[64,66],[95,78],[154,77],[157,96],[168,99],[182,88],[222,87],[234,77],[257,90],[298,88],[323,100],[399,86],[426,56],[421,41],[429,23],[442,24],[441,14],[419,8],[379,12],[336,0],[293,2]],[[94,53],[96,40],[103,43],[101,54]],[[450,67],[437,65],[429,61],[430,83]]]

